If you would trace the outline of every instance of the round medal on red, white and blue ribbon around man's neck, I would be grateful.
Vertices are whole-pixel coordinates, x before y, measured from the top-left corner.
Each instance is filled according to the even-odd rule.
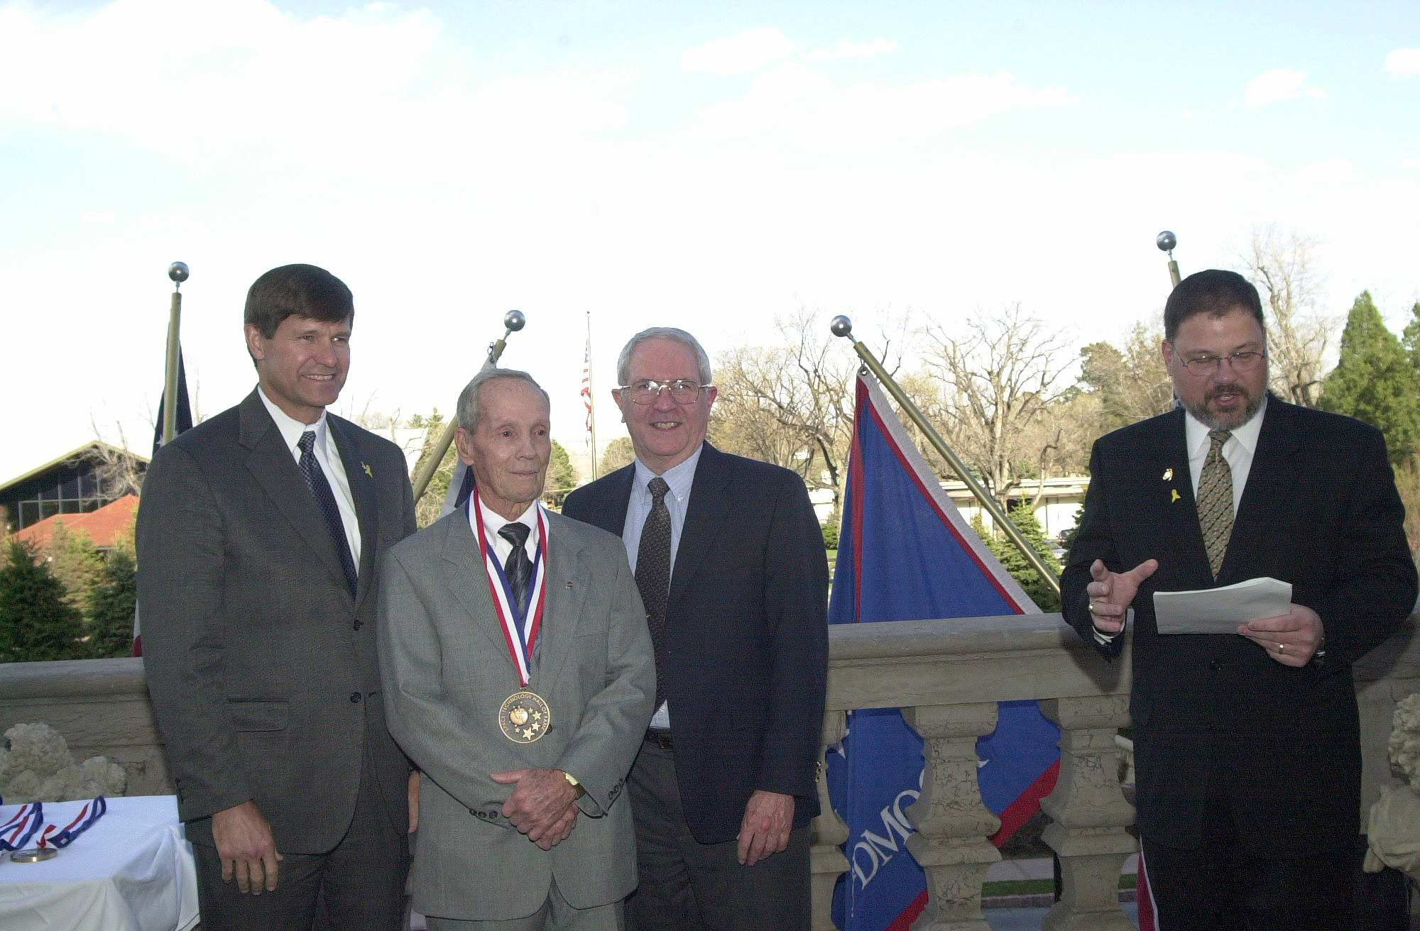
[[[547,701],[528,688],[532,650],[537,647],[537,637],[542,629],[542,607],[547,600],[547,590],[542,585],[547,576],[547,519],[542,517],[542,508],[538,507],[537,555],[532,558],[532,573],[528,576],[527,609],[520,610],[518,602],[513,596],[508,575],[484,534],[483,505],[479,502],[479,495],[471,494],[469,500],[473,508],[471,524],[477,528],[479,549],[483,551],[493,610],[498,616],[508,657],[518,671],[518,691],[508,695],[498,708],[498,729],[514,744],[531,744],[547,734],[552,724],[552,710]]]

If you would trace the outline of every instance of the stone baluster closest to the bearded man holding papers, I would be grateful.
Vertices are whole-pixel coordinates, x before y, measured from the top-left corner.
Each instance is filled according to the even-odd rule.
[[[1129,695],[1041,701],[1061,727],[1061,772],[1041,800],[1054,820],[1042,839],[1061,860],[1061,900],[1045,914],[1047,931],[1133,931],[1119,908],[1119,870],[1137,849],[1125,830],[1135,809],[1119,788],[1115,734],[1129,722]]]

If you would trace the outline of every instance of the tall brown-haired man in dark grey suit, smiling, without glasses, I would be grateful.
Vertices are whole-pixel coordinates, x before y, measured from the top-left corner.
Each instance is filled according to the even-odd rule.
[[[328,414],[349,288],[251,285],[257,389],[153,457],[138,518],[143,667],[206,931],[398,928],[409,764],[385,728],[376,566],[415,529],[399,448]]]

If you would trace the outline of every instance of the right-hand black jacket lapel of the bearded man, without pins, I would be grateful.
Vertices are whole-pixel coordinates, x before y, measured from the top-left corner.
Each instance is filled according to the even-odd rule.
[[[1296,483],[1299,460],[1291,422],[1291,404],[1268,397],[1257,450],[1252,451],[1252,467],[1242,487],[1242,500],[1233,521],[1233,536],[1228,539],[1223,569],[1218,572],[1220,583],[1250,578],[1250,566],[1257,565],[1257,553],[1267,545],[1268,521],[1274,514],[1284,514],[1294,507],[1288,504],[1288,498]]]

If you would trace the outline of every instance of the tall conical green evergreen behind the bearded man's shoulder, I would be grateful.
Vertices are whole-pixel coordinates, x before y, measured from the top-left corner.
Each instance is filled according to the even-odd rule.
[[[1346,316],[1340,358],[1322,386],[1319,406],[1377,427],[1392,464],[1404,461],[1420,441],[1420,376],[1369,291],[1360,292]]]

